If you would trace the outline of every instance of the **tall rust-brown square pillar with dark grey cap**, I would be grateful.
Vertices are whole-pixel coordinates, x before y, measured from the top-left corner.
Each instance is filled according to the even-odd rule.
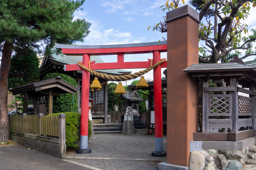
[[[189,142],[198,132],[198,81],[183,69],[198,63],[199,14],[182,6],[166,14],[167,164],[189,166]]]

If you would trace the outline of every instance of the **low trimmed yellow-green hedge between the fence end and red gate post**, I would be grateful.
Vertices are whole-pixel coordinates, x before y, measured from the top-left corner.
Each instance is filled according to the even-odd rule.
[[[81,113],[62,112],[53,113],[51,116],[66,114],[66,144],[67,147],[78,148],[80,144]],[[88,125],[88,140],[92,134],[91,124]]]

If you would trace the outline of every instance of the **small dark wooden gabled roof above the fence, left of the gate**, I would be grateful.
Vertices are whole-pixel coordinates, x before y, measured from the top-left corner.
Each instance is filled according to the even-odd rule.
[[[38,82],[32,82],[27,85],[22,85],[16,88],[10,88],[9,91],[13,95],[20,93],[28,93],[32,96],[44,96],[49,94],[49,90],[52,89],[53,95],[58,95],[62,93],[75,94],[78,88],[65,82],[61,77],[55,77],[51,79],[45,79]]]

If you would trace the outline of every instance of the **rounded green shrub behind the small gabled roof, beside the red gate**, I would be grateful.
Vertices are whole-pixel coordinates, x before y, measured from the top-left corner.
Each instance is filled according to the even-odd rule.
[[[70,83],[71,85],[77,87],[76,79],[60,73],[48,73],[44,76],[43,79],[49,79],[53,77],[60,76],[65,82]],[[71,93],[59,94],[58,96],[53,96],[53,113],[60,112],[77,112],[78,103],[77,103],[77,92],[75,95]]]

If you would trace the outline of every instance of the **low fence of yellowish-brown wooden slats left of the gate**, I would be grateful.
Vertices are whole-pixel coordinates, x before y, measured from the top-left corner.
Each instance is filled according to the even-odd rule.
[[[10,131],[32,133],[47,136],[60,136],[61,130],[65,124],[65,116],[43,116],[39,115],[11,115],[10,116]]]

